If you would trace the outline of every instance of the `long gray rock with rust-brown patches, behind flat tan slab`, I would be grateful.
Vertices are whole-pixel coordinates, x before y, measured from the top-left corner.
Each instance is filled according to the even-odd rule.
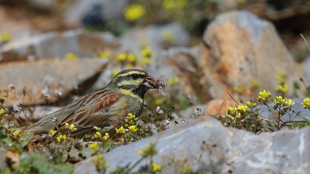
[[[72,52],[79,57],[93,57],[104,49],[119,47],[117,39],[108,32],[89,34],[83,30],[49,32],[46,34],[16,40],[0,48],[2,62],[16,60],[38,60],[64,57]],[[32,57],[30,59],[30,57]]]

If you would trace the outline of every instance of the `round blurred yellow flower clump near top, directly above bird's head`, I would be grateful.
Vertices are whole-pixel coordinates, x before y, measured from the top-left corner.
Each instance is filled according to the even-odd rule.
[[[135,21],[145,14],[145,8],[141,4],[134,3],[126,6],[123,13],[126,20]]]

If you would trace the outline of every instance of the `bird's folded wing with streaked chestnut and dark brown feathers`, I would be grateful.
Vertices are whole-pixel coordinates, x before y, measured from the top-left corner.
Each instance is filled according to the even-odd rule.
[[[72,132],[71,136],[77,136],[85,134],[85,132],[90,130],[95,130],[94,126],[104,127],[111,123],[108,117],[111,115],[110,107],[121,97],[121,94],[117,94],[108,88],[95,91],[88,95],[84,101],[81,101],[81,107],[65,118],[59,124],[59,128],[64,129],[65,123],[69,123],[69,125],[74,124],[77,130]]]

